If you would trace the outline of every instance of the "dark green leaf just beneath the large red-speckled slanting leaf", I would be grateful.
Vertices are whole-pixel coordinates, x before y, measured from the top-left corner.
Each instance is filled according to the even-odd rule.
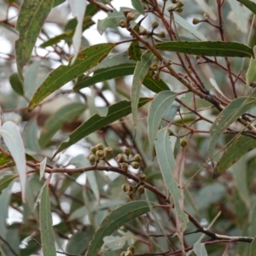
[[[127,75],[131,75],[134,72],[135,64],[127,63],[119,66],[107,67],[96,70],[91,77],[79,77],[77,83],[73,87],[73,90],[78,91],[84,87],[88,87],[91,84],[96,84],[109,79],[119,78]]]

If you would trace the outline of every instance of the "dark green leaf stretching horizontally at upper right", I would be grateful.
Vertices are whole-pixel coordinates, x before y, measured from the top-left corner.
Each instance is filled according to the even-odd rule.
[[[156,49],[222,57],[252,57],[253,49],[236,42],[164,42],[155,45]]]

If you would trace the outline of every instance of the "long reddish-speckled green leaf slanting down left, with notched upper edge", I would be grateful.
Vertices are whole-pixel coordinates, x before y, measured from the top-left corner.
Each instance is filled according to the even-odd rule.
[[[62,85],[82,75],[91,67],[95,67],[108,55],[115,45],[116,44],[95,44],[79,51],[77,59],[72,66],[61,65],[56,68],[49,74],[48,78],[44,80],[44,83],[40,85],[32,96],[28,107],[29,111],[36,108],[38,103],[42,102],[45,97],[49,96],[55,90],[61,88]]]

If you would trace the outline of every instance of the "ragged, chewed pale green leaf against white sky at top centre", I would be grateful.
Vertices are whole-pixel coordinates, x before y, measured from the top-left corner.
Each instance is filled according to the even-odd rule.
[[[125,20],[124,10],[129,9],[125,7],[121,7],[118,10],[113,9],[112,13],[108,13],[108,17],[103,20],[98,20],[97,22],[97,31],[102,35],[102,33],[108,28],[108,27],[115,27],[119,26],[120,20]],[[131,13],[135,15],[135,19],[140,15],[137,10],[130,9]]]

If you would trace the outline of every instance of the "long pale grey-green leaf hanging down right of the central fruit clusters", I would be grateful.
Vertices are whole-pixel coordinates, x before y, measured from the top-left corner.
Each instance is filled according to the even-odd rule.
[[[183,195],[181,190],[178,188],[175,178],[173,177],[173,170],[175,170],[176,164],[166,128],[161,129],[158,132],[157,139],[154,142],[154,147],[166,189],[168,189],[172,195],[177,218],[179,219],[181,229],[183,231],[186,229],[189,219],[179,204],[179,202],[183,200]]]

